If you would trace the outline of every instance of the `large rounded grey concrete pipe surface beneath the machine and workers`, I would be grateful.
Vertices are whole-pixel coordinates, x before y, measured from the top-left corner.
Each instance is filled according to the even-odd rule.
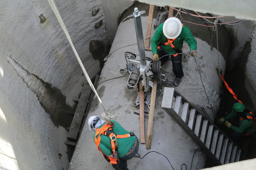
[[[143,11],[142,11],[143,12]],[[128,16],[129,17],[129,16]],[[147,17],[142,17],[142,26],[144,37],[146,34]],[[153,31],[153,30],[152,30]],[[153,34],[153,33],[152,33]],[[197,63],[202,74],[203,83],[206,87],[206,92],[209,95],[209,101],[215,109],[218,109],[218,94],[220,92],[221,81],[216,72],[217,50],[210,50],[210,46],[196,38],[197,40]],[[135,43],[135,44],[134,44]],[[127,46],[133,44],[131,46]],[[185,44],[185,43],[184,43]],[[126,46],[126,47],[124,47]],[[116,50],[118,49],[118,50]],[[133,114],[134,101],[137,97],[137,92],[130,92],[127,89],[127,77],[120,77],[119,69],[125,66],[124,52],[129,51],[138,54],[138,46],[136,44],[135,28],[133,18],[129,18],[118,26],[110,56],[107,59],[101,76],[98,92],[102,96],[102,101],[105,107],[112,114],[121,112],[121,116],[117,121],[127,130],[133,131],[139,136],[139,117]],[[188,51],[188,46],[185,45],[183,50]],[[152,57],[151,52],[146,52],[147,57]],[[225,61],[220,54],[221,69],[225,69]],[[163,68],[170,72],[167,74],[170,80],[173,78],[171,71],[172,66],[170,61]],[[177,90],[184,95],[188,101],[199,107],[209,107],[199,74],[194,64],[194,58],[186,56],[183,59],[183,69],[185,72],[181,84]],[[159,87],[160,88],[160,87]],[[198,148],[191,138],[168,116],[161,108],[162,94],[156,100],[156,108],[154,113],[153,137],[151,141],[151,149],[146,150],[145,144],[139,147],[139,153],[144,156],[149,151],[158,151],[171,161],[174,169],[180,169],[181,164],[185,163],[189,167],[194,150],[190,148]],[[209,109],[207,109],[209,112]],[[91,115],[101,115],[103,109],[99,106],[97,99],[94,98],[88,117]],[[214,115],[209,112],[214,117]],[[147,119],[145,120],[145,129],[147,131]],[[107,163],[101,153],[97,150],[92,138],[92,132],[87,128],[82,130],[80,140],[71,160],[71,170],[84,169],[106,169],[111,170],[111,164]],[[145,132],[147,134],[147,132]],[[193,161],[192,169],[200,169],[204,167],[205,154],[196,153]],[[131,170],[135,169],[171,169],[168,161],[161,155],[150,153],[143,160],[132,158],[128,161],[128,167]]]

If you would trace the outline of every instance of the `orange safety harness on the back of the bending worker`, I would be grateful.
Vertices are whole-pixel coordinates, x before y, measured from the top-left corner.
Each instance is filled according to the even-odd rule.
[[[106,122],[105,122],[106,123]],[[113,132],[113,127],[114,125],[106,123],[100,128],[97,128],[95,131],[95,144],[97,145],[98,150],[103,154],[104,158],[111,164],[118,164],[119,163],[119,156],[118,156],[118,141],[117,138],[129,138],[131,136],[134,136],[134,133],[129,133],[125,135],[118,135]],[[98,138],[97,138],[97,135]],[[113,152],[113,157],[106,156],[101,150],[100,150],[100,136],[105,135],[109,137],[111,147],[112,147],[112,152]]]

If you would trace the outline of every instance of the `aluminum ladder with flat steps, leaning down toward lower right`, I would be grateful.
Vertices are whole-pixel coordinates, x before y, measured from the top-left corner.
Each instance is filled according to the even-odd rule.
[[[228,164],[240,160],[241,148],[204,118],[174,88],[165,87],[162,108],[216,164]]]

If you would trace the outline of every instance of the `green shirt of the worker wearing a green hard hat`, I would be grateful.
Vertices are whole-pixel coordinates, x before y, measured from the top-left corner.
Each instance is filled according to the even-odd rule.
[[[246,113],[245,115],[246,116],[251,116],[250,113]],[[234,118],[236,116],[238,116],[238,114],[236,112],[231,112],[230,114],[225,116],[224,119],[228,120],[228,119]],[[240,118],[241,118],[241,116],[239,117],[239,119]],[[245,134],[247,134],[247,133],[252,133],[252,132],[255,133],[256,129],[253,131],[254,126],[255,126],[255,122],[253,120],[251,120],[251,119],[248,119],[248,120],[247,119],[243,119],[243,120],[240,121],[239,127],[235,127],[235,126],[231,125],[230,128],[232,130],[235,130],[238,133],[245,133]]]

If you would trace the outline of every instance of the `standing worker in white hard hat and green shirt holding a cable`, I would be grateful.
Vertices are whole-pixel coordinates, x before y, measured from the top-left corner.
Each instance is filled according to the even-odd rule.
[[[190,55],[195,57],[197,55],[197,42],[188,27],[176,17],[170,17],[160,24],[151,41],[154,61],[165,62],[171,55],[173,71],[176,76],[173,81],[174,86],[178,86],[184,76],[181,63],[182,54],[179,54],[182,53],[183,41],[188,43],[191,50]]]

